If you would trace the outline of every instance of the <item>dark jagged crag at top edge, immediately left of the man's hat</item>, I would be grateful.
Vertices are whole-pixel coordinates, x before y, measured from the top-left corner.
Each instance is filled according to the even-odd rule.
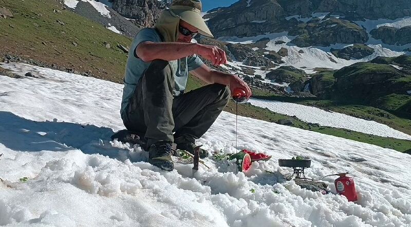
[[[166,1],[158,0],[114,0],[113,9],[120,15],[135,19],[141,27],[153,27],[167,6]]]

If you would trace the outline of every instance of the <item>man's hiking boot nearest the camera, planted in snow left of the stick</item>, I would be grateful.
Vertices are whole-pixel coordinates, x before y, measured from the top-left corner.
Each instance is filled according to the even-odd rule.
[[[158,141],[148,149],[148,163],[160,169],[172,171],[174,170],[172,155],[172,142]]]

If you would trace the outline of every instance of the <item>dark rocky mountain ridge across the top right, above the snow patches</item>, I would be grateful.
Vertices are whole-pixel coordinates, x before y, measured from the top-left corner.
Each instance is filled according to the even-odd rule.
[[[328,15],[318,18],[315,13],[319,12]],[[410,15],[411,2],[406,0],[396,4],[384,0],[240,0],[229,7],[212,10],[204,18],[217,37],[288,31],[297,36],[293,44],[306,47],[366,43],[366,30],[353,23],[354,20]],[[398,34],[402,44],[408,42],[404,40],[406,34],[409,32],[405,30]]]

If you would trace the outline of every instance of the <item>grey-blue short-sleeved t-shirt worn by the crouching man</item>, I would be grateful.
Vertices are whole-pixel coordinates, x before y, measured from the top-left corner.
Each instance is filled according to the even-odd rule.
[[[125,114],[127,107],[129,105],[129,100],[133,96],[135,89],[137,87],[138,81],[143,76],[144,71],[150,66],[151,61],[144,62],[137,57],[136,48],[137,46],[146,41],[151,41],[154,43],[161,43],[161,36],[153,28],[144,28],[133,40],[132,46],[128,52],[127,65],[124,73],[124,89],[123,89],[123,100],[121,101],[120,114],[123,116]],[[195,70],[203,64],[201,59],[197,55],[192,55],[184,57],[178,60],[170,61],[174,74],[174,91],[173,95],[178,96],[184,93],[185,85],[187,84],[187,78],[189,76],[189,71]]]

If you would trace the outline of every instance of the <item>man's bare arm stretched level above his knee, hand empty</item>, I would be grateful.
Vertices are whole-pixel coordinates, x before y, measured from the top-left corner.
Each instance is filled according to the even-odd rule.
[[[197,54],[210,60],[213,65],[227,63],[226,53],[220,48],[192,43],[154,43],[146,41],[137,46],[136,54],[145,62],[155,59],[171,61]]]

